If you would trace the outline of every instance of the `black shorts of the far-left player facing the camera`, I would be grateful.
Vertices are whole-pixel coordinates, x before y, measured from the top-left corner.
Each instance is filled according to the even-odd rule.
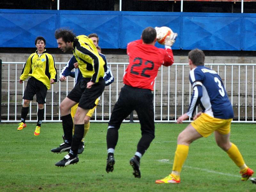
[[[24,91],[23,99],[32,101],[34,95],[36,95],[36,102],[39,104],[44,104],[46,94],[47,87],[35,77],[30,77]]]

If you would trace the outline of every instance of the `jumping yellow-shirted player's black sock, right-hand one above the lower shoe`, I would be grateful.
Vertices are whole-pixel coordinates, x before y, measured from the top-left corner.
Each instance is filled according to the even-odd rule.
[[[75,132],[73,135],[69,156],[71,157],[77,156],[77,151],[81,143],[81,140],[83,139],[83,136],[84,136],[84,124],[75,124]]]

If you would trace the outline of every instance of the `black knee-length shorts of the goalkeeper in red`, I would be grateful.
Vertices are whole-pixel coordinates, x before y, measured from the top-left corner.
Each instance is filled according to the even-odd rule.
[[[149,89],[124,85],[112,111],[108,125],[120,128],[124,118],[135,110],[140,120],[142,133],[155,133],[153,94]]]

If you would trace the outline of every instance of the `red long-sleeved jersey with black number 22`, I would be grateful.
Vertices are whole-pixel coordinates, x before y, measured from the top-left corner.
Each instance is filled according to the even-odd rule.
[[[124,84],[153,91],[158,68],[171,66],[174,62],[172,49],[161,49],[142,44],[142,40],[127,45],[129,65],[124,73]]]

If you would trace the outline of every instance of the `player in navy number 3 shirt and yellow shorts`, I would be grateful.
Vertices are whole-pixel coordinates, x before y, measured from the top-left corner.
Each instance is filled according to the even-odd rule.
[[[172,173],[164,179],[156,180],[156,183],[180,183],[180,172],[188,156],[189,145],[201,137],[208,137],[212,132],[217,145],[240,168],[241,180],[246,181],[252,176],[253,170],[246,166],[238,148],[229,140],[234,112],[221,78],[215,71],[204,67],[203,51],[190,51],[188,59],[193,95],[188,112],[180,116],[177,123],[192,117],[198,103],[203,110],[194,116],[194,121],[178,136]]]

